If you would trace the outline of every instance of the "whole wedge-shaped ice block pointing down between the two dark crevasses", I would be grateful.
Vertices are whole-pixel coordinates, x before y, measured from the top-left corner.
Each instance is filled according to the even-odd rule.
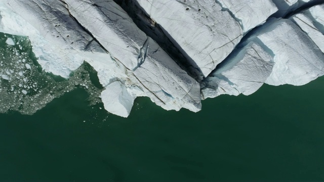
[[[232,52],[246,31],[277,10],[269,0],[136,1],[205,77]]]

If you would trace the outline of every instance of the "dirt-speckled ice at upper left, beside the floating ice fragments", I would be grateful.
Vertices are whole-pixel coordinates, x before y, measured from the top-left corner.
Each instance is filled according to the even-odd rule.
[[[0,31],[27,35],[38,63],[47,72],[68,78],[84,60],[110,56],[80,27],[61,1],[0,2]],[[91,50],[88,50],[91,49]]]

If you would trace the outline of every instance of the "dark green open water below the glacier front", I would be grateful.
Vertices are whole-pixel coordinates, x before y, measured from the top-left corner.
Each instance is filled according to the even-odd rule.
[[[140,98],[125,119],[76,89],[32,116],[0,114],[0,180],[324,180],[323,93],[324,77],[263,85],[198,113]]]

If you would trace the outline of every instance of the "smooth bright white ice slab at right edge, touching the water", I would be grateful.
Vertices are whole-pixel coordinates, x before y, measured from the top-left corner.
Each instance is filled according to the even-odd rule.
[[[303,85],[324,74],[324,54],[289,19],[273,19],[251,39],[261,41],[274,55],[275,65],[266,80],[268,84]]]

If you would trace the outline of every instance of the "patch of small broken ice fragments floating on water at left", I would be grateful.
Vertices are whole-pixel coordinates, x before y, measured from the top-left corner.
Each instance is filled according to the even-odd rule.
[[[9,36],[19,42],[19,45],[6,45],[4,37]],[[0,43],[4,45],[0,47],[0,113],[14,110],[22,114],[33,114],[53,99],[82,85],[88,85],[84,88],[89,93],[92,104],[100,101],[96,98],[100,96],[102,89],[90,81],[88,68],[84,64],[73,71],[69,80],[56,82],[45,72],[39,72],[33,64],[36,60],[32,60],[27,37],[0,33]],[[25,64],[30,68],[27,69]]]

